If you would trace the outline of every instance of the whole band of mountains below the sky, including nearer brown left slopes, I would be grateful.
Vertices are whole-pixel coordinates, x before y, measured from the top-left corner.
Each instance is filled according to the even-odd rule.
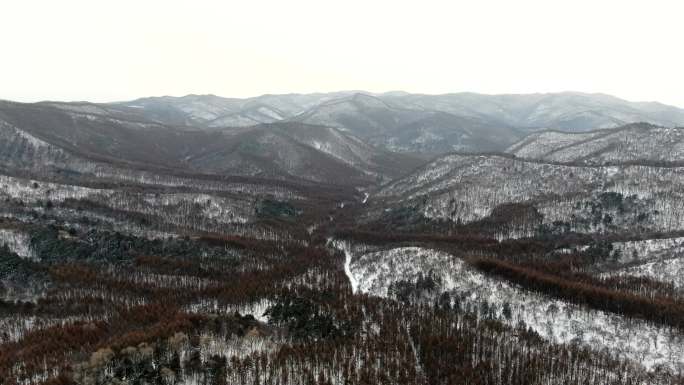
[[[0,102],[5,168],[92,173],[99,162],[354,186],[388,182],[451,152],[506,151],[561,163],[678,162],[682,130],[670,127],[679,125],[684,111],[676,107],[581,93]]]

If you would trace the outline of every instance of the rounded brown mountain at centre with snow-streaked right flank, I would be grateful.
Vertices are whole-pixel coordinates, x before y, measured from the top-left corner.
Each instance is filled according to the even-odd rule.
[[[221,174],[289,175],[334,184],[387,180],[420,162],[377,150],[328,127],[277,123],[219,132],[218,142],[184,162],[194,170]]]

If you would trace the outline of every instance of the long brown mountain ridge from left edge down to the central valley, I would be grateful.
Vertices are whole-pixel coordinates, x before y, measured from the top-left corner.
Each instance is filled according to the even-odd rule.
[[[3,155],[7,164],[25,167],[33,162],[34,171],[52,166],[84,172],[97,161],[333,184],[386,180],[418,165],[411,157],[377,150],[327,127],[176,127],[127,113],[89,104],[3,103]]]

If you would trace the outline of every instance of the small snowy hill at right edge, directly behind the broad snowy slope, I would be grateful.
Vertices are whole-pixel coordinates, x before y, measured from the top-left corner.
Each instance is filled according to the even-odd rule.
[[[544,131],[525,137],[506,152],[520,158],[566,163],[681,163],[684,129],[632,124],[576,134]]]

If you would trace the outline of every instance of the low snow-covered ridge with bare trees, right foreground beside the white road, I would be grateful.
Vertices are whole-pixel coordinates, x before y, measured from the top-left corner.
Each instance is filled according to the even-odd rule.
[[[355,291],[384,297],[392,282],[415,281],[419,274],[431,272],[441,278],[441,290],[477,308],[486,301],[502,321],[511,325],[523,321],[550,341],[610,349],[648,369],[663,365],[675,372],[684,370],[684,337],[668,328],[528,292],[444,252],[403,247],[351,255],[349,247],[335,245],[345,252],[345,272]],[[508,320],[502,316],[506,302],[512,311]]]

